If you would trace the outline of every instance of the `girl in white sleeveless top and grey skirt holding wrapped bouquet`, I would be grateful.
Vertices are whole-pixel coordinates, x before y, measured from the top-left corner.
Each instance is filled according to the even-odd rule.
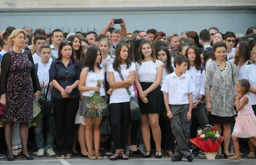
[[[80,74],[80,80],[78,89],[83,91],[83,100],[79,108],[79,115],[85,117],[86,127],[83,124],[79,125],[79,129],[85,127],[85,139],[87,144],[87,149],[89,152],[89,159],[103,159],[101,154],[99,154],[99,144],[100,144],[100,122],[101,119],[98,116],[96,121],[93,123],[92,114],[87,109],[86,104],[90,97],[94,95],[94,92],[100,92],[100,96],[105,98],[105,81],[104,81],[104,71],[99,66],[101,63],[101,51],[98,47],[89,47],[84,57],[84,68]],[[101,87],[97,87],[98,80],[101,80]],[[103,116],[108,116],[108,108],[105,108],[102,112]],[[80,141],[79,141],[80,142]],[[93,145],[94,144],[94,145]],[[81,145],[82,146],[82,145]],[[81,147],[82,148],[82,147]],[[93,154],[93,149],[95,150],[95,155]],[[81,153],[82,157],[86,157]]]

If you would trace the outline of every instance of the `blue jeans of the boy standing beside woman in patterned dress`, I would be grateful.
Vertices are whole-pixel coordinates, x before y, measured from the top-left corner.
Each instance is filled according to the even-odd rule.
[[[54,146],[55,134],[52,131],[52,122],[54,116],[43,116],[41,120],[35,126],[35,143],[37,144],[37,149],[45,148],[45,150],[51,149]],[[44,122],[47,124],[47,136],[46,136],[46,146],[44,147],[44,136],[43,136],[43,126]]]

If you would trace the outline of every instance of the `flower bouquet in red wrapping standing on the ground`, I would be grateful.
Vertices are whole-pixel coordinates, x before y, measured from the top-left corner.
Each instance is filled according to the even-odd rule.
[[[206,125],[205,128],[199,128],[197,130],[197,137],[190,139],[189,141],[202,149],[206,154],[207,159],[215,159],[218,148],[221,145],[224,137],[219,135],[216,128],[211,125]],[[211,158],[210,158],[211,157]]]

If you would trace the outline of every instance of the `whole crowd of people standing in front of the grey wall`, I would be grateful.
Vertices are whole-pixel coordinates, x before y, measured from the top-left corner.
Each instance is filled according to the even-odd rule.
[[[103,149],[110,160],[128,160],[149,158],[155,150],[155,158],[191,162],[196,153],[205,156],[189,142],[195,128],[212,124],[224,137],[216,158],[240,160],[239,138],[247,138],[248,158],[255,157],[256,27],[244,37],[217,27],[166,35],[127,32],[122,18],[120,29],[114,23],[99,34],[40,28],[31,34],[29,27],[0,33],[8,161],[34,159],[27,148],[29,123],[38,117],[35,101],[44,98],[54,111],[35,122],[36,156],[101,160]],[[95,92],[108,104],[96,118],[88,108]],[[140,120],[131,120],[131,96],[138,98]],[[110,134],[102,134],[101,123]]]

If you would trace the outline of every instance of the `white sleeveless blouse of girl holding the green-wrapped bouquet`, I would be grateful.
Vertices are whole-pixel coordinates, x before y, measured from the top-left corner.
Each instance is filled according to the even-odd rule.
[[[89,69],[89,68],[87,68]],[[97,86],[97,83],[98,83],[98,80],[101,80],[101,87],[99,88],[99,93],[100,93],[100,96],[105,96],[106,93],[105,93],[105,90],[104,90],[104,87],[103,87],[103,81],[104,81],[104,70],[101,69],[101,73],[94,73],[93,71],[91,72],[88,72],[87,74],[87,77],[86,77],[86,80],[85,80],[85,83],[84,83],[84,86],[85,87],[96,87]],[[83,92],[83,96],[88,96],[88,97],[91,97],[93,96],[95,91],[91,90],[91,91],[84,91]]]

